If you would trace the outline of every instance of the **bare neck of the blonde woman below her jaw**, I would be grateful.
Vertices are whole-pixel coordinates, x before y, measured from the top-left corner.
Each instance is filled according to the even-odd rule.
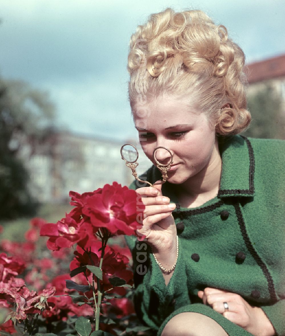
[[[209,163],[198,174],[177,185],[176,194],[182,207],[195,208],[218,195],[222,158],[216,140]]]

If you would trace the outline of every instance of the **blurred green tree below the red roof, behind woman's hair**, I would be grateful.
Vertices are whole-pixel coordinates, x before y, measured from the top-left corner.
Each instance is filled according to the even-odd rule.
[[[243,133],[254,138],[285,139],[285,113],[282,97],[270,84],[247,97],[252,121]]]

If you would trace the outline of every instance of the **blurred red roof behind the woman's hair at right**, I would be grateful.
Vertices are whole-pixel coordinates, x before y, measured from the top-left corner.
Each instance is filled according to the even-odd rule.
[[[248,83],[285,76],[285,54],[245,66]]]

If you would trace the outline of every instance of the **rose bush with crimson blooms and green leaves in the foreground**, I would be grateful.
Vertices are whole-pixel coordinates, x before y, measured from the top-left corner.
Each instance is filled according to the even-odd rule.
[[[25,242],[0,243],[0,310],[6,311],[1,335],[147,329],[138,327],[132,305],[130,251],[121,239],[114,244],[118,235],[135,235],[140,227],[144,209],[137,209],[136,193],[113,182],[70,197],[74,208],[57,223],[33,219]],[[48,250],[40,236],[48,237]]]

